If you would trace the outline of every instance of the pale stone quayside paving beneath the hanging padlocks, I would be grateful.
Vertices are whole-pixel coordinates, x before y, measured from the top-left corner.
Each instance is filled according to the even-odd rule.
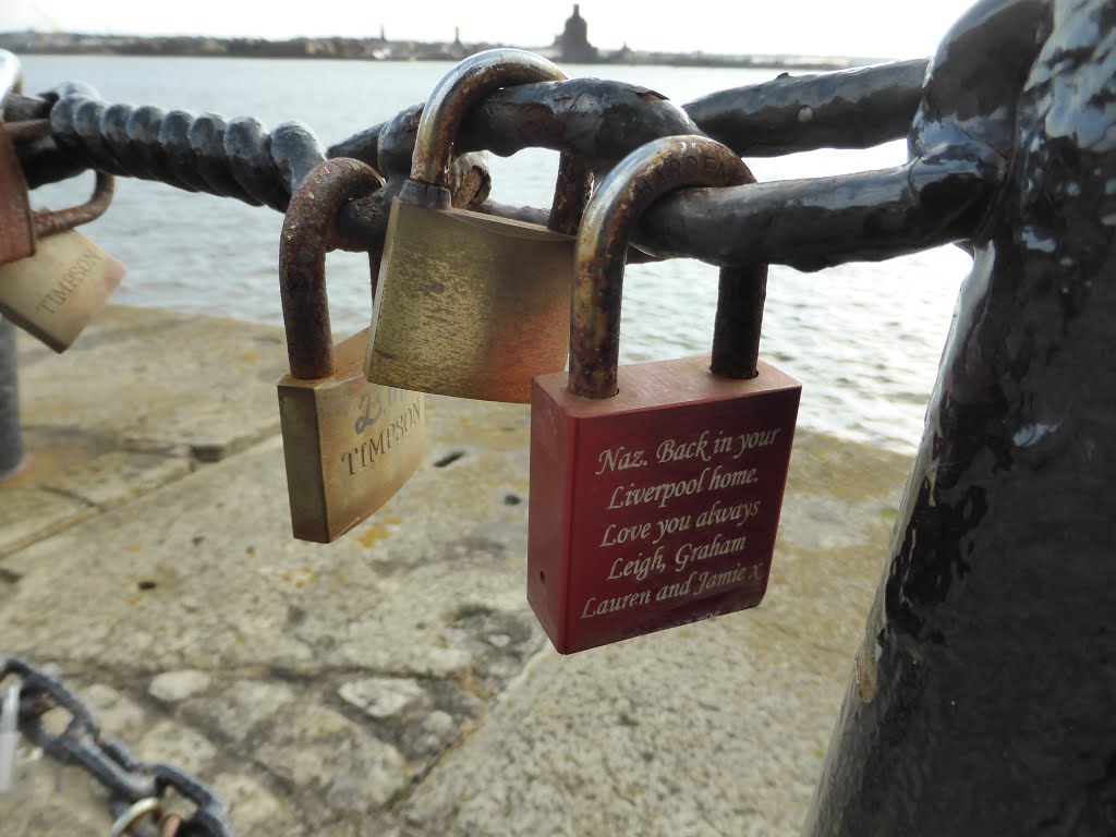
[[[0,653],[238,835],[798,833],[907,459],[800,430],[759,608],[562,657],[525,598],[526,406],[427,396],[414,478],[319,546],[290,537],[281,329],[114,307],[19,350]],[[0,833],[107,833],[85,773],[35,763]]]

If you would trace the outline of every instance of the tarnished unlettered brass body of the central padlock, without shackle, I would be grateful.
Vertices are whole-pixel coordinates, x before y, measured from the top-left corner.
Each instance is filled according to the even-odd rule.
[[[565,368],[574,240],[396,200],[373,306],[369,381],[526,403]]]

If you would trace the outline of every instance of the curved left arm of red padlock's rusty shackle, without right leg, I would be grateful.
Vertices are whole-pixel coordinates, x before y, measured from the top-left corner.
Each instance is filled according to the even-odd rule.
[[[754,182],[731,148],[704,136],[654,140],[608,173],[589,199],[577,235],[569,326],[571,393],[610,398],[617,392],[627,246],[647,208],[663,194],[686,186]]]

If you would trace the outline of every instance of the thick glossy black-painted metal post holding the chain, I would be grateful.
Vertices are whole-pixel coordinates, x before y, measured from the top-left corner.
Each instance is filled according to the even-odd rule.
[[[982,2],[912,147],[1007,155],[806,834],[1116,831],[1116,2]],[[941,96],[935,93],[941,92]]]

